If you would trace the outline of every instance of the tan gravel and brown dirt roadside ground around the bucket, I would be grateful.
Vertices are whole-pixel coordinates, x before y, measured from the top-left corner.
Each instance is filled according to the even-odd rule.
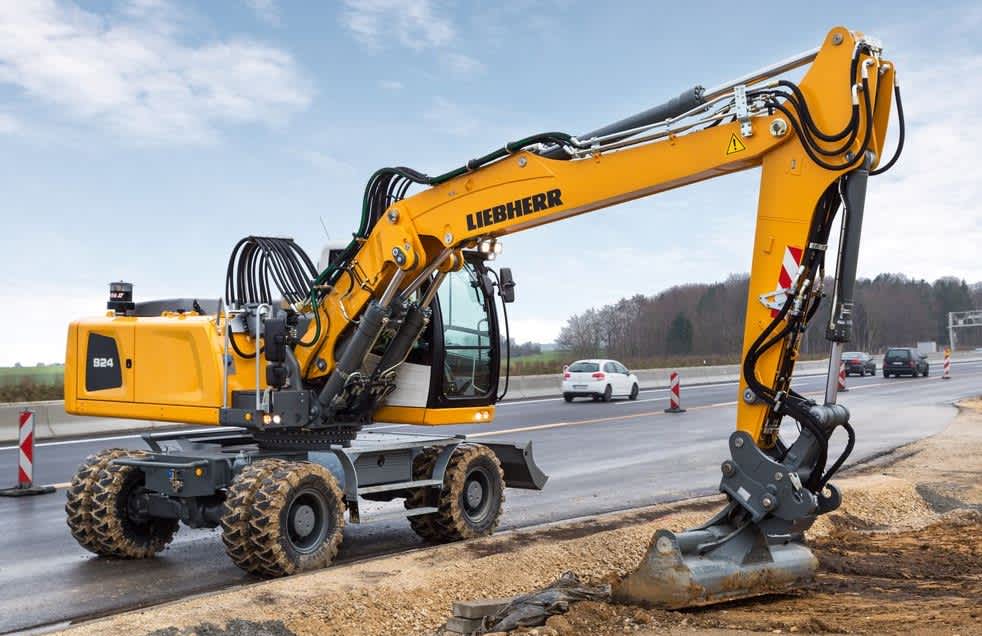
[[[850,471],[809,533],[822,567],[794,595],[682,612],[584,602],[558,634],[982,633],[982,401],[949,428]],[[973,410],[977,409],[977,410]],[[525,593],[566,570],[609,580],[652,532],[705,519],[718,498],[422,549],[129,612],[70,633],[434,634],[454,600]]]

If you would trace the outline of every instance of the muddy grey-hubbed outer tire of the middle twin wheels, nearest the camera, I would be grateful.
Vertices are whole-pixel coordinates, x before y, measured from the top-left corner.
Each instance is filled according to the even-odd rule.
[[[327,567],[341,547],[344,511],[331,471],[311,462],[283,462],[255,492],[244,562],[265,577]]]

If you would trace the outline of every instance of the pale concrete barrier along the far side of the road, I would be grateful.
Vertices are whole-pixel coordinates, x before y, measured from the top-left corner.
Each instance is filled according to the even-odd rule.
[[[930,354],[928,359],[932,365],[941,364],[943,353]],[[952,356],[955,362],[971,362],[982,360],[976,352],[960,352]],[[799,362],[795,369],[796,376],[822,375],[828,369],[828,360],[807,360]],[[878,368],[879,368],[878,363]],[[941,372],[938,366],[937,372]],[[699,367],[679,367],[673,369],[642,369],[634,371],[642,389],[668,388],[670,374],[678,371],[682,383],[686,387],[700,384],[715,384],[719,382],[734,382],[740,377],[740,365],[707,365]],[[509,400],[559,397],[561,375],[550,373],[546,375],[513,376],[509,383]],[[17,441],[17,417],[25,407],[30,407],[37,413],[35,437],[39,440],[64,437],[78,437],[97,433],[122,433],[129,431],[146,431],[156,429],[172,429],[173,422],[150,422],[146,420],[126,420],[114,418],[97,418],[69,415],[65,413],[65,404],[60,400],[48,402],[30,402],[0,404],[0,442]]]

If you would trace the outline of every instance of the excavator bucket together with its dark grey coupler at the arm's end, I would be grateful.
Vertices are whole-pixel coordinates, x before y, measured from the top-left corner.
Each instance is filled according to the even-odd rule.
[[[841,406],[814,407],[836,422]],[[816,438],[803,431],[781,460],[743,431],[730,436],[720,491],[726,506],[705,524],[675,534],[658,530],[637,569],[614,586],[622,603],[679,609],[795,589],[812,580],[818,560],[804,532],[838,508],[838,489],[802,484],[814,468]],[[783,460],[783,461],[782,461]]]

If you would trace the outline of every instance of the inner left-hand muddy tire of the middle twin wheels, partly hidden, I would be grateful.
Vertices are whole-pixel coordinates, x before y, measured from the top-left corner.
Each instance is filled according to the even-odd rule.
[[[225,553],[232,562],[246,572],[261,571],[250,543],[250,520],[256,493],[263,479],[269,479],[273,471],[284,463],[282,459],[261,459],[249,464],[235,476],[225,495],[221,519],[222,543],[225,544]]]

